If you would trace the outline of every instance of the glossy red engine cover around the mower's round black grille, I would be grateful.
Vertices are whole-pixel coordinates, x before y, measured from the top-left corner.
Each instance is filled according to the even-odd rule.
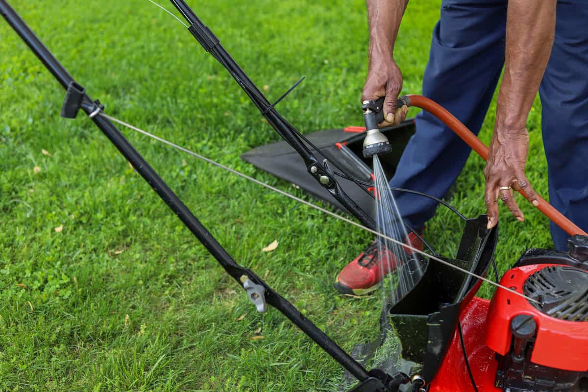
[[[500,284],[519,293],[534,272],[557,264],[513,268]],[[510,320],[530,314],[537,323],[537,337],[531,355],[533,363],[570,371],[588,371],[588,322],[566,321],[543,314],[529,301],[506,290],[496,290],[488,313],[486,344],[500,355],[510,349]]]

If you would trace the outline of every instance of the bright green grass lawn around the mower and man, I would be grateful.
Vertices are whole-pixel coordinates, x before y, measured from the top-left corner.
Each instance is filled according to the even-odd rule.
[[[279,104],[300,130],[362,124],[363,1],[190,4],[270,100],[306,75]],[[404,93],[421,91],[439,4],[407,9],[396,44]],[[12,5],[107,113],[302,195],[239,160],[278,135],[225,69],[147,0]],[[64,91],[4,20],[0,83],[0,390],[335,390],[335,361],[278,311],[257,314],[90,120],[59,117]],[[493,104],[486,143],[494,112]],[[527,167],[547,196],[539,113],[537,101]],[[123,132],[235,260],[335,341],[349,350],[376,336],[382,298],[332,288],[368,233]],[[449,200],[467,216],[485,212],[483,167],[473,155]],[[518,223],[501,207],[501,271],[528,247],[552,246],[547,219],[522,209]],[[440,209],[426,236],[452,254],[460,227]],[[275,239],[278,249],[261,251]]]

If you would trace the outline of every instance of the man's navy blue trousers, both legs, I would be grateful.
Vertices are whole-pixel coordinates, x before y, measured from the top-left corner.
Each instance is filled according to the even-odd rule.
[[[433,31],[423,95],[476,134],[505,60],[506,7],[507,0],[443,0]],[[550,203],[588,230],[588,0],[557,3],[555,41],[539,93]],[[470,150],[442,122],[419,113],[416,134],[390,186],[443,197]],[[531,149],[529,156],[536,153]],[[423,227],[435,214],[432,200],[406,193],[395,196],[413,227]],[[483,198],[481,193],[476,196]],[[566,249],[569,236],[553,223],[551,233],[556,248]]]

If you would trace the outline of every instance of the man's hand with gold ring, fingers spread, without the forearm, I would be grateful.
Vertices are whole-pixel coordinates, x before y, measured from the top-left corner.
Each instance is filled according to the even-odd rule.
[[[488,228],[498,222],[498,204],[500,197],[510,212],[523,222],[524,215],[515,202],[512,189],[523,190],[527,200],[538,205],[537,195],[524,175],[524,165],[529,152],[529,133],[527,129],[505,130],[496,129],[490,142],[490,150],[484,176],[486,192],[484,201],[487,206]]]

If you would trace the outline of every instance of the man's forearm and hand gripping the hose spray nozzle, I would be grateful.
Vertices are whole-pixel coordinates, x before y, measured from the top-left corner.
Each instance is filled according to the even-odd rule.
[[[394,43],[408,0],[366,0],[369,22],[368,78],[362,102],[385,96],[384,121],[380,126],[399,124],[408,108],[396,108],[402,89],[402,72],[394,61]]]

